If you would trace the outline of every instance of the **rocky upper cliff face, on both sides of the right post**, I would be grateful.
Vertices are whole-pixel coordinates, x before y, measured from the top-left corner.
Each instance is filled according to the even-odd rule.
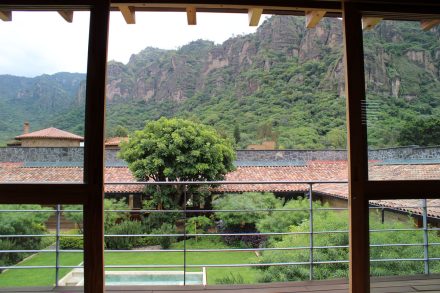
[[[121,100],[181,102],[206,91],[207,87],[210,93],[221,91],[249,68],[270,71],[275,63],[286,59],[295,59],[298,64],[328,63],[319,87],[342,95],[341,25],[339,19],[326,19],[315,29],[305,29],[302,18],[276,16],[263,23],[254,35],[231,38],[221,45],[199,40],[177,51],[147,48],[133,55],[126,65],[109,64],[108,99],[111,103]],[[369,91],[394,97],[417,96],[417,89],[410,85],[416,81],[414,76],[404,77],[406,70],[410,70],[408,66],[426,71],[434,80],[440,79],[440,48],[429,50],[423,48],[422,40],[408,40],[411,33],[408,30],[407,24],[383,22],[379,29],[365,33],[365,78]],[[438,30],[431,34],[439,39]],[[418,44],[404,48],[412,41]],[[273,54],[284,56],[274,59]],[[402,63],[407,66],[399,68]],[[228,75],[216,74],[219,71],[227,71]],[[292,79],[304,81],[301,75]],[[245,88],[236,89],[237,96],[252,94],[260,88],[261,80],[246,83]]]

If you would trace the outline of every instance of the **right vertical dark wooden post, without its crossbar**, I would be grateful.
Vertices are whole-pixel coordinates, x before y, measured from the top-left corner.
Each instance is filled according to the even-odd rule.
[[[355,4],[343,2],[345,93],[347,103],[350,292],[370,292],[367,129],[362,121],[365,102],[364,54],[361,14]]]

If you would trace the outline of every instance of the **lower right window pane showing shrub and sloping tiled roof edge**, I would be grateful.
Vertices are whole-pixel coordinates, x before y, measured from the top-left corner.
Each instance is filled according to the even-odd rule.
[[[431,199],[370,201],[372,276],[438,272],[439,207]]]

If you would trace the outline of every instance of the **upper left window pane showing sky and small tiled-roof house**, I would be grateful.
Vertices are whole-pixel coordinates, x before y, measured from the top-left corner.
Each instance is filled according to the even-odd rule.
[[[0,22],[0,182],[82,182],[89,12]]]

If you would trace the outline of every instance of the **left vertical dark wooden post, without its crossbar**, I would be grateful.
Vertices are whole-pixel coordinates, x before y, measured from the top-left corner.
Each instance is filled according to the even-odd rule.
[[[85,109],[84,292],[104,292],[104,118],[110,1],[91,8]]]

